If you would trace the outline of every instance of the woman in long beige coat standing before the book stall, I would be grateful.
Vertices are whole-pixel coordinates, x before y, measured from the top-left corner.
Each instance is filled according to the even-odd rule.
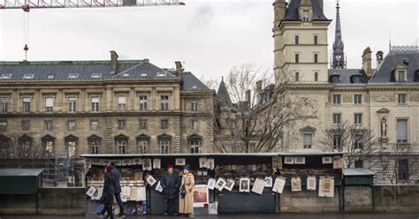
[[[189,215],[189,217],[194,217],[194,175],[190,172],[191,165],[187,164],[183,168],[183,177],[182,184],[185,185],[185,197],[179,197],[179,213]]]

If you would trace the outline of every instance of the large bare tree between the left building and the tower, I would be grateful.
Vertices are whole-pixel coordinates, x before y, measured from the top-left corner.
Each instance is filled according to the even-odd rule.
[[[225,79],[232,103],[216,97],[208,121],[222,152],[270,152],[280,147],[286,128],[309,105],[306,98],[285,98],[289,77],[272,83],[272,73],[256,64],[233,66]]]

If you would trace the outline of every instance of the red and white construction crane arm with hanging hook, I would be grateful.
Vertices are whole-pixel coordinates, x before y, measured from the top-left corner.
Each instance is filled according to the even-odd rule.
[[[22,9],[24,13],[25,60],[29,40],[29,15],[31,9],[57,8],[110,8],[185,5],[181,0],[0,0],[0,10]]]

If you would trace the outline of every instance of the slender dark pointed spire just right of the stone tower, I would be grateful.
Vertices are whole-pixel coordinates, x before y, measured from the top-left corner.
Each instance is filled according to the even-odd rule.
[[[331,61],[332,69],[346,69],[347,61],[345,58],[344,45],[342,41],[342,31],[340,29],[339,0],[336,3],[336,27],[335,42],[333,42],[333,59]]]

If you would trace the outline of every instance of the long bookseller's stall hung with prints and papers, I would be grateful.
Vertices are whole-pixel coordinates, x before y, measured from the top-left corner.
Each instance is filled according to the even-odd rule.
[[[211,153],[81,157],[85,160],[85,185],[91,200],[88,212],[94,213],[98,206],[104,165],[115,162],[121,171],[121,196],[126,212],[128,215],[141,215],[164,213],[159,180],[168,164],[175,165],[179,176],[183,166],[191,164],[195,177],[194,208],[198,214],[292,211],[286,196],[296,193],[316,194],[316,199],[336,199],[339,203],[342,155]]]

